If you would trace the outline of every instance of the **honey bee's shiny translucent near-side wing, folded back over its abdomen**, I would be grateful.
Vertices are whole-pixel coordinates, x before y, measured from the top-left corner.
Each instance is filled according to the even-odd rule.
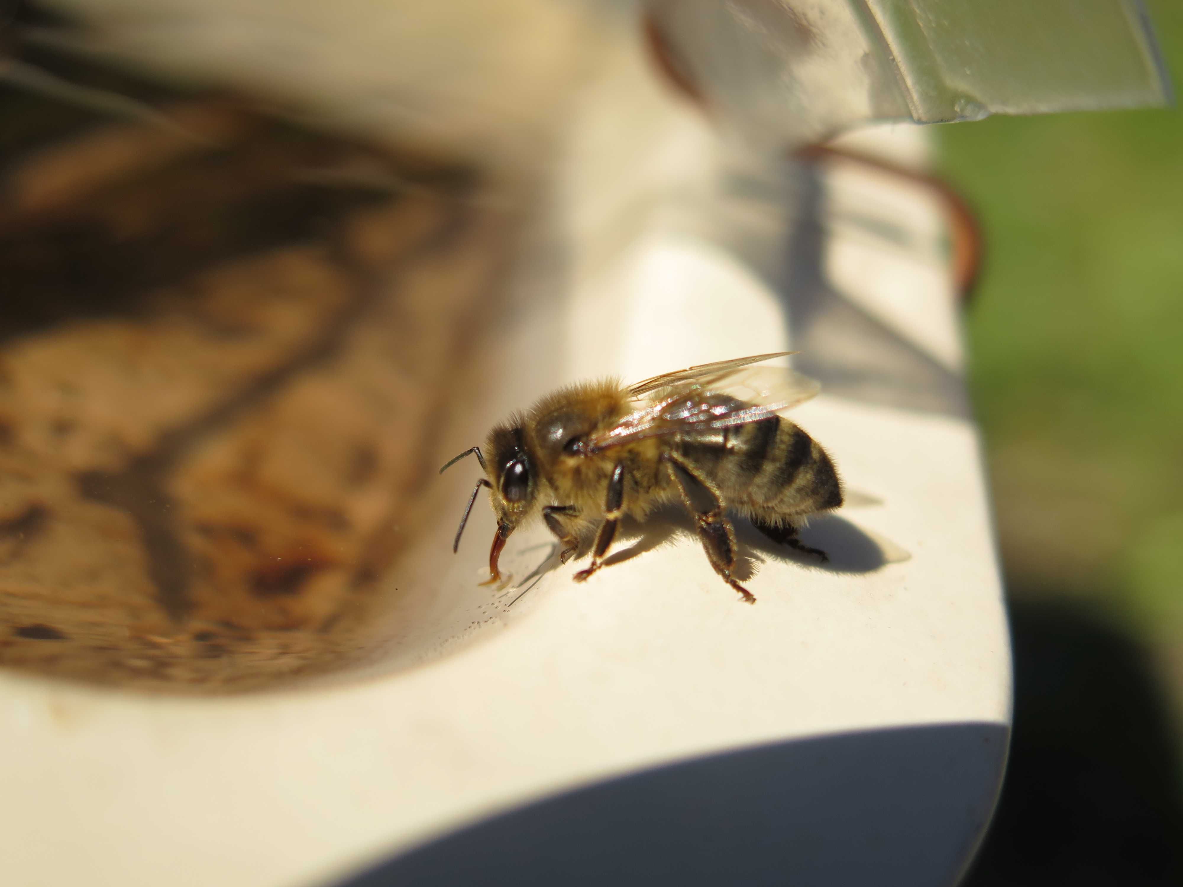
[[[774,355],[745,358],[745,362],[755,363],[770,356]],[[789,369],[744,369],[745,363],[728,363],[732,368],[720,374],[707,373],[652,389],[652,399],[642,401],[642,406],[612,427],[594,434],[586,446],[589,451],[603,451],[646,438],[693,434],[758,422],[804,403],[821,390],[815,380]]]

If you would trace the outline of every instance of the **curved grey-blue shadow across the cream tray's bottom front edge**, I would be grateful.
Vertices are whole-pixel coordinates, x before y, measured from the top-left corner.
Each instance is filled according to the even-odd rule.
[[[342,887],[948,887],[1006,745],[1002,725],[946,724],[697,758],[491,817]]]

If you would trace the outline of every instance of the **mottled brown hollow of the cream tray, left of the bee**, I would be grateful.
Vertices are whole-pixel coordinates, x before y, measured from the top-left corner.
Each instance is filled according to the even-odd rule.
[[[310,181],[374,151],[177,114],[200,141],[106,124],[6,164],[0,666],[265,687],[356,655],[393,594],[510,226]]]

